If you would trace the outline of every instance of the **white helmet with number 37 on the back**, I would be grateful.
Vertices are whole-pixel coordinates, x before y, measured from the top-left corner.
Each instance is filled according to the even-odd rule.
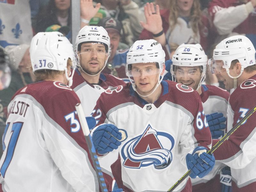
[[[72,85],[74,70],[71,76],[67,74],[67,61],[70,59],[72,67],[75,68],[75,54],[73,45],[62,33],[37,33],[31,40],[29,52],[33,72],[44,69],[65,71],[69,86]]]

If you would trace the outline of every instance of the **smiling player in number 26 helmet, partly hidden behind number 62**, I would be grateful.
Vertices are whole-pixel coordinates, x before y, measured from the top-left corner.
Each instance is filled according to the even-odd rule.
[[[171,72],[173,81],[190,86],[200,94],[204,113],[208,114],[207,121],[212,138],[217,139],[224,135],[226,128],[229,92],[214,85],[202,84],[205,79],[206,65],[207,56],[200,44],[181,44],[172,56]],[[192,179],[192,191],[221,191],[219,174],[224,166],[225,164],[216,162],[207,176],[202,179]]]

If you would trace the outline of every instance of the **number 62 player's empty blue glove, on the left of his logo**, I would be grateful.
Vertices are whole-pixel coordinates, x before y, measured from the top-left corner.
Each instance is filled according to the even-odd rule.
[[[106,154],[121,145],[122,134],[113,124],[102,124],[93,132],[92,142],[98,154]]]

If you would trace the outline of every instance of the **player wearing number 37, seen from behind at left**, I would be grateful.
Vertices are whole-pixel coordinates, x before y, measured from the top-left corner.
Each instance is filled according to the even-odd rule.
[[[72,84],[72,44],[60,32],[31,41],[37,83],[18,90],[8,106],[0,160],[3,191],[99,191]]]

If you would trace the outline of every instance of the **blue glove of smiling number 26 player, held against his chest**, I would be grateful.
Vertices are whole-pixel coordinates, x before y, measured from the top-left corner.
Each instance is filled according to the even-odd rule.
[[[206,115],[206,120],[212,134],[212,139],[218,139],[220,136],[224,136],[224,130],[226,129],[226,124],[224,122],[227,118],[223,117],[222,113]]]

